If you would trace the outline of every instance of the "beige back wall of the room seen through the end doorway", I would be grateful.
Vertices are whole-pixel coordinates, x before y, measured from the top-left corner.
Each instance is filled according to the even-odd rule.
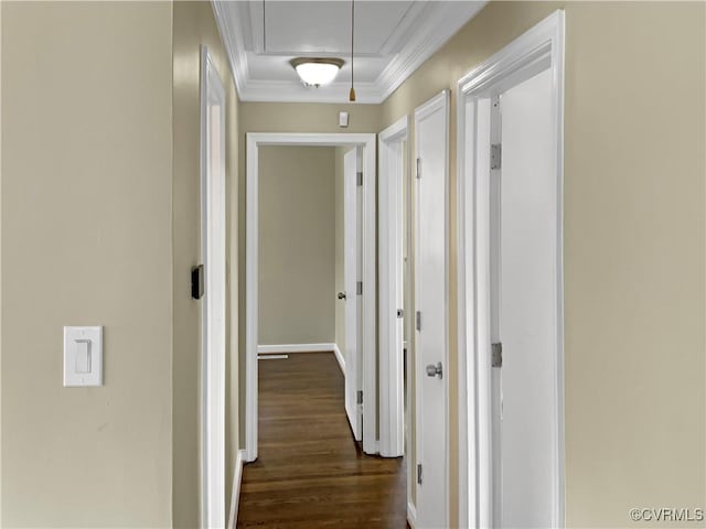
[[[335,338],[335,150],[259,149],[259,344]]]

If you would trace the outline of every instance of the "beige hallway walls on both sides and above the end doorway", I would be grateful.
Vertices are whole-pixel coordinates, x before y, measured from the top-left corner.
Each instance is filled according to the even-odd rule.
[[[440,89],[454,90],[557,6],[490,4],[383,106],[238,109],[229,89],[228,174],[244,132],[338,132],[342,109],[351,111],[345,131],[382,130]],[[197,259],[189,198],[197,43],[212,47],[229,84],[210,6],[6,1],[0,10],[1,521],[191,526],[197,309],[184,292]],[[566,4],[570,527],[623,527],[633,506],[694,507],[706,497],[705,10]],[[244,188],[239,160],[233,207]],[[454,190],[453,155],[451,169]],[[454,344],[453,192],[450,203]],[[229,218],[231,278],[244,271],[237,220]],[[105,325],[104,387],[62,387],[61,332],[69,324]],[[238,343],[236,332],[229,338]],[[450,371],[457,358],[452,345]],[[235,419],[237,363],[229,368]],[[453,472],[454,421],[451,430]],[[236,420],[228,432],[229,487]]]

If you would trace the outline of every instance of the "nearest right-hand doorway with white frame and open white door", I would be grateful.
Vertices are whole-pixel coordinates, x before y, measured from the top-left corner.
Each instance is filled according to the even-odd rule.
[[[459,82],[461,526],[564,525],[563,57],[557,11]]]

